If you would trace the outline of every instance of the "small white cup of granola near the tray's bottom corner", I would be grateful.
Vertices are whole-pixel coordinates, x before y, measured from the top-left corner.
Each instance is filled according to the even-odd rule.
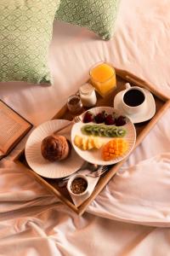
[[[75,174],[67,183],[67,189],[71,195],[88,195],[88,178],[83,174]]]

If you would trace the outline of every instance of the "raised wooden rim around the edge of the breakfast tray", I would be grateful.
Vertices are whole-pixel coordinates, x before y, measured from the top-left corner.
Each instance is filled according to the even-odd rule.
[[[133,83],[137,86],[140,87],[144,87],[146,89],[149,89],[154,95],[156,95],[158,98],[161,99],[161,101],[166,102],[161,108],[160,110],[156,113],[154,119],[150,120],[150,125],[146,125],[146,127],[144,128],[144,130],[139,134],[139,137],[136,141],[135,147],[133,148],[133,150],[135,148],[137,148],[139,146],[139,144],[143,141],[144,137],[148,134],[148,132],[154,127],[154,125],[156,125],[156,122],[158,121],[158,119],[161,118],[161,116],[163,115],[163,113],[166,112],[167,108],[170,108],[170,99],[169,97],[163,95],[161,93],[161,91],[156,90],[155,86],[152,84],[149,84],[148,82],[144,81],[143,79],[139,79],[137,76],[135,76],[133,73],[129,73],[126,70],[122,70],[122,69],[118,69],[116,68],[116,75],[118,75],[120,78],[127,80],[127,82],[129,83]],[[61,116],[65,113],[67,107],[66,104],[60,108],[59,112],[56,113],[54,115],[54,117],[52,119],[59,119],[61,118]],[[17,154],[14,157],[14,162],[19,164],[20,166],[24,166],[20,161],[20,155],[24,154],[24,150],[22,149],[20,151],[19,154]],[[133,151],[131,152],[131,154],[133,153]],[[129,155],[127,156],[127,158],[129,157]],[[118,164],[116,164],[116,166],[114,166],[110,172],[108,172],[105,175],[105,178],[102,180],[102,185],[100,184],[100,186],[97,184],[93,194],[90,196],[90,198],[88,198],[87,201],[85,201],[84,203],[82,203],[82,205],[80,207],[75,207],[71,201],[68,201],[63,195],[61,195],[59,193],[59,191],[57,189],[54,189],[53,186],[49,185],[46,181],[43,180],[42,177],[40,177],[39,175],[36,174],[36,172],[33,172],[31,169],[27,168],[26,166],[24,166],[26,168],[26,172],[28,174],[31,174],[31,176],[35,177],[38,183],[41,183],[44,186],[44,183],[47,183],[45,186],[48,191],[54,195],[57,195],[59,200],[63,201],[68,207],[71,207],[71,209],[74,212],[77,212],[78,215],[82,215],[83,212],[86,211],[88,205],[94,201],[94,198],[96,197],[96,195],[99,195],[99,192],[104,189],[105,185],[111,180],[111,177],[113,177],[116,172],[119,170],[119,168],[124,164],[124,162],[127,160],[127,158],[125,160],[122,160],[121,162],[119,162]],[[33,173],[32,173],[33,172]]]

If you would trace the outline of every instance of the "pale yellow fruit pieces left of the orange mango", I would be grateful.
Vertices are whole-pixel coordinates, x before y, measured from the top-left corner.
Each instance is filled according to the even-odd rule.
[[[99,149],[103,144],[98,137],[81,137],[79,135],[75,136],[74,143],[82,150]]]

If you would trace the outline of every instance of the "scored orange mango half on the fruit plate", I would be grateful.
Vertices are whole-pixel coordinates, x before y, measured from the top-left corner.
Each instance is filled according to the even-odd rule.
[[[102,148],[102,159],[110,161],[127,152],[128,144],[123,138],[115,138],[109,141]]]

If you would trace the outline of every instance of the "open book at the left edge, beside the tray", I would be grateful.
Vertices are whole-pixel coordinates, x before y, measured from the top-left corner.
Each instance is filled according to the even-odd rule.
[[[7,155],[32,125],[0,100],[0,159]]]

